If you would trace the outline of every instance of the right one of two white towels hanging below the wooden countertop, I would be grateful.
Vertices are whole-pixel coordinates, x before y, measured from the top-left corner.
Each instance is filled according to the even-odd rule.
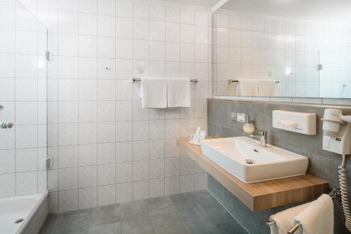
[[[323,194],[317,200],[310,202],[303,211],[293,218],[293,224],[300,223],[296,234],[333,234],[334,209],[333,200]]]

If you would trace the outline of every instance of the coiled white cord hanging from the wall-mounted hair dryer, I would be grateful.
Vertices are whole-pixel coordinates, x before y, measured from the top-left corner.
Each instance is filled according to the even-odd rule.
[[[339,183],[340,183],[340,194],[341,194],[341,205],[343,206],[343,212],[345,216],[345,226],[349,232],[351,232],[351,214],[349,208],[349,202],[347,200],[347,184],[346,184],[346,156],[343,155],[343,163],[338,167],[339,170]]]

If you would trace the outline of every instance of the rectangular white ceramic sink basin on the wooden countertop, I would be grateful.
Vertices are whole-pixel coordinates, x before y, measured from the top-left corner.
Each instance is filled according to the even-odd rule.
[[[204,139],[204,156],[245,183],[305,174],[308,158],[248,137]]]

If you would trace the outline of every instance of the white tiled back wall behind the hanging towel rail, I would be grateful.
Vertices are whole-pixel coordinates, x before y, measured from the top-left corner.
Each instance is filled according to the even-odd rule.
[[[28,0],[31,1],[31,0]],[[51,212],[193,191],[206,174],[178,137],[206,128],[211,13],[132,0],[32,1],[49,27]],[[141,109],[140,76],[187,76],[189,109]]]

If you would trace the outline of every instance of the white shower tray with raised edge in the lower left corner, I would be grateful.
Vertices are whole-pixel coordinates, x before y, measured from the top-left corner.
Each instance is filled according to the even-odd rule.
[[[48,192],[0,199],[0,233],[38,233],[47,215]],[[19,223],[15,223],[23,219]]]

